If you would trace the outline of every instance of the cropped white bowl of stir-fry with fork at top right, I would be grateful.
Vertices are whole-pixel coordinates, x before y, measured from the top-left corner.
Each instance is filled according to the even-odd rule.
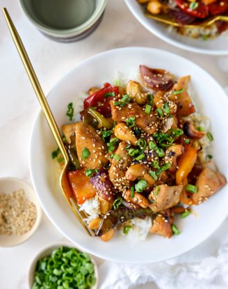
[[[125,0],[154,35],[191,52],[228,54],[227,0]]]

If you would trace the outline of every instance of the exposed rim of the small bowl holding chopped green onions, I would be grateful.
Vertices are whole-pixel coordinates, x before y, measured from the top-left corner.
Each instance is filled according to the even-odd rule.
[[[47,256],[51,256],[51,253],[61,246],[74,248],[74,244],[71,244],[70,242],[58,242],[58,243],[50,244],[47,247],[44,247],[44,249],[42,249],[40,252],[38,252],[35,255],[29,267],[29,274],[28,274],[29,289],[33,288],[33,283],[35,279],[35,267],[36,267],[36,264],[38,263],[38,260]],[[95,278],[97,279],[95,285],[92,286],[91,289],[97,289],[97,285],[98,285],[97,264],[95,263],[95,260],[94,258],[92,258],[92,256],[90,256],[90,259],[95,267]]]

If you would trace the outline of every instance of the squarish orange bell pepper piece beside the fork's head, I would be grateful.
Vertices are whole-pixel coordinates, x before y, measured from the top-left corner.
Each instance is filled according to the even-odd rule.
[[[85,175],[85,169],[70,171],[68,178],[79,205],[96,195],[95,188],[90,183],[90,178]]]

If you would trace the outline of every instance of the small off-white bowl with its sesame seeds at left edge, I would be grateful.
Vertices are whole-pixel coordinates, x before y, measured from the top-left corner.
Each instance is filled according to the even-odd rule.
[[[37,230],[42,210],[33,188],[17,178],[0,178],[0,247],[13,247]]]

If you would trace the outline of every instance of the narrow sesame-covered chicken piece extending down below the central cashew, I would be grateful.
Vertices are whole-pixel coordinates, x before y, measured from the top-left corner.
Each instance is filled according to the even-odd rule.
[[[108,171],[111,182],[113,182],[113,185],[120,190],[120,192],[124,191],[124,187],[130,187],[130,181],[125,177],[125,173],[131,164],[132,158],[129,156],[126,147],[127,143],[124,141],[119,144],[115,155],[120,157],[120,161],[117,162],[113,157],[113,159],[111,159],[111,167]]]

